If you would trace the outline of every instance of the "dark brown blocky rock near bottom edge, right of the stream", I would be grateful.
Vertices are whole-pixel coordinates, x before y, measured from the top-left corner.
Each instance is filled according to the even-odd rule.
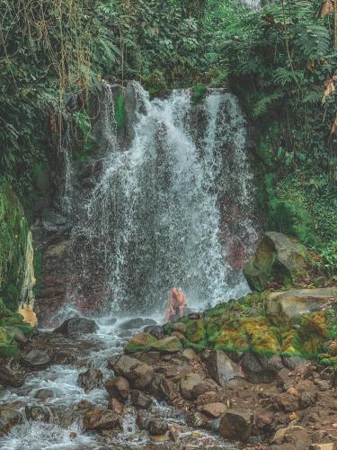
[[[245,441],[252,426],[253,414],[249,410],[227,410],[220,420],[219,433],[228,440]]]

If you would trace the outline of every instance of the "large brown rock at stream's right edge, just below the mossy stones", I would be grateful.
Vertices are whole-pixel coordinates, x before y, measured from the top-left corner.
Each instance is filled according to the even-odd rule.
[[[124,376],[136,389],[144,389],[155,376],[153,367],[130,356],[121,356],[114,365],[114,371],[116,375]]]

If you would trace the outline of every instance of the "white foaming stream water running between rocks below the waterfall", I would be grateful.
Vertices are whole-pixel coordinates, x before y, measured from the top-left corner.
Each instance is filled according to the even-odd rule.
[[[67,311],[65,317],[74,316],[75,311]],[[2,392],[1,403],[13,401],[22,402],[22,411],[26,405],[43,405],[49,410],[48,422],[23,419],[22,423],[0,438],[3,450],[86,450],[86,449],[123,449],[152,448],[164,446],[164,443],[152,443],[146,431],[137,428],[137,410],[127,404],[123,416],[122,431],[116,435],[100,435],[94,432],[84,432],[82,420],[76,417],[74,405],[90,401],[95,408],[108,405],[109,396],[104,389],[93,389],[84,392],[77,384],[80,373],[88,367],[99,368],[104,379],[113,374],[108,368],[108,361],[113,356],[122,353],[123,346],[132,334],[146,325],[158,323],[155,318],[95,318],[99,329],[94,334],[65,337],[62,343],[64,349],[77,354],[74,364],[51,365],[47,369],[31,373],[20,388]],[[139,328],[139,323],[143,322]],[[52,342],[53,333],[50,329],[40,330],[43,338]],[[55,335],[59,338],[59,335]],[[50,341],[51,339],[51,341]],[[68,347],[67,347],[68,346]],[[53,395],[51,397],[51,395]],[[204,430],[191,428],[186,424],[186,418],[181,411],[174,410],[167,403],[154,401],[151,412],[155,417],[161,417],[170,426],[176,428],[178,440],[175,448],[191,446],[191,448],[235,449],[236,446],[225,442],[222,438]],[[23,412],[24,416],[24,412]],[[172,444],[171,444],[172,445]],[[170,445],[170,446],[171,446]]]

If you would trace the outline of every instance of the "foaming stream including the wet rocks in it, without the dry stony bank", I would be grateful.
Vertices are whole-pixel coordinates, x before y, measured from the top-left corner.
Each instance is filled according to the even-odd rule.
[[[75,318],[54,331],[36,330],[21,357],[1,361],[1,448],[235,449],[212,430],[189,425],[169,397],[144,392],[146,373],[136,384],[115,376],[114,362],[131,334],[155,324]]]

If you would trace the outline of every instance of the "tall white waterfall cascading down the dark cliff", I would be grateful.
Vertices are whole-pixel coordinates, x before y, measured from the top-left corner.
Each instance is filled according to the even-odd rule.
[[[247,257],[257,238],[235,96],[209,90],[195,105],[186,89],[150,101],[139,84],[130,86],[136,111],[127,148],[118,144],[104,87],[102,174],[75,230],[87,276],[91,267],[117,312],[163,311],[173,286],[191,307],[247,293],[242,267],[231,261]]]

